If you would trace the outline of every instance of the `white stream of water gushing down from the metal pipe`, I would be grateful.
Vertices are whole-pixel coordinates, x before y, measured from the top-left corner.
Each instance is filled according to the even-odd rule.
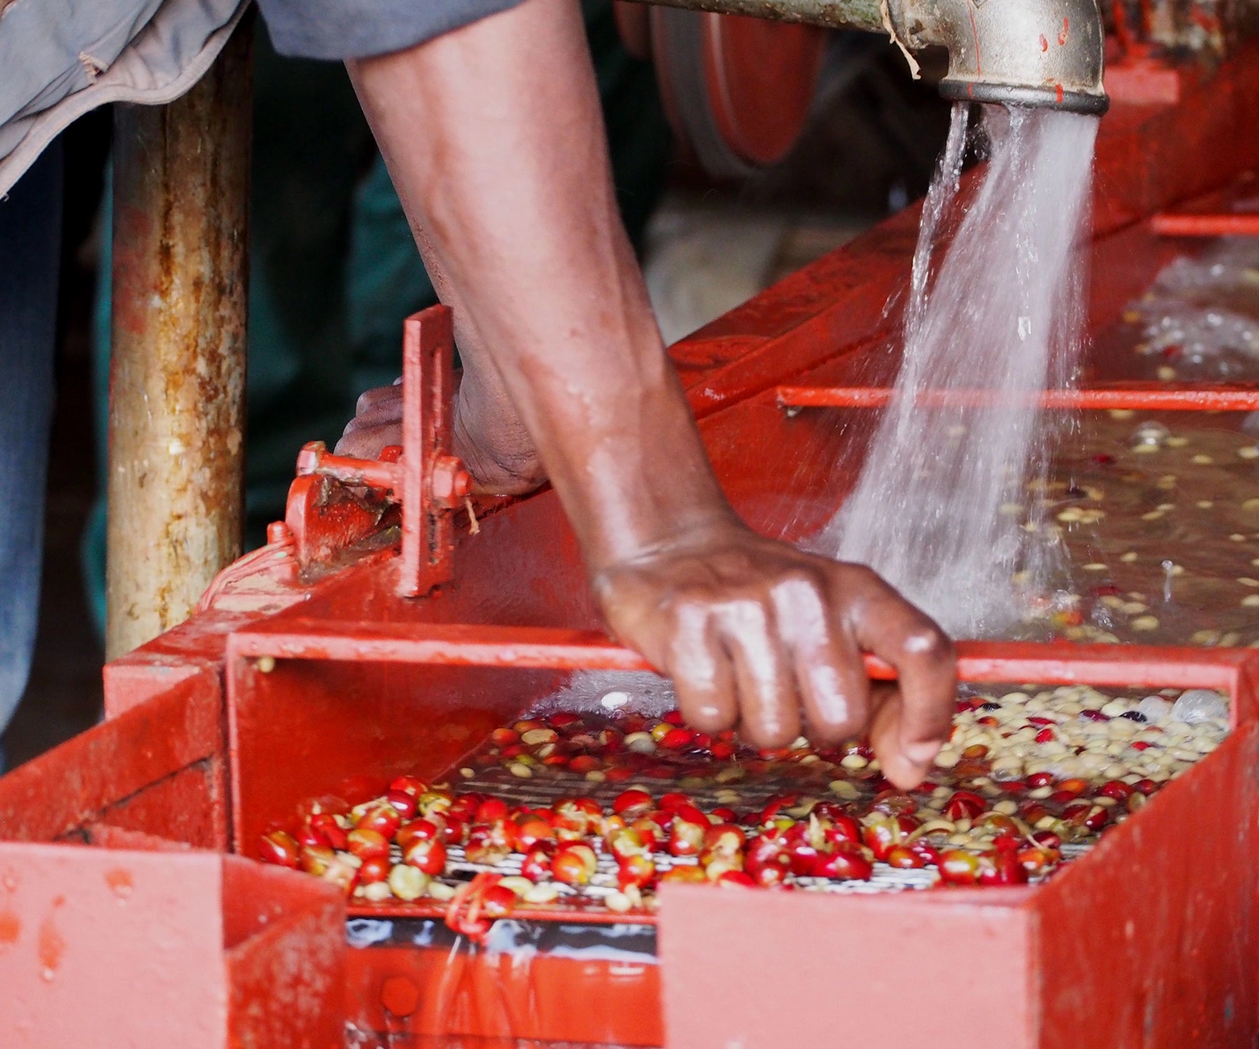
[[[985,107],[987,170],[932,280],[957,199],[966,110],[923,208],[895,398],[861,477],[811,544],[875,568],[951,633],[1020,618],[1016,570],[1047,573],[1054,544],[1021,505],[1044,476],[1054,427],[1029,399],[1073,377],[1083,331],[1094,117]],[[956,212],[957,209],[953,208]],[[928,390],[991,390],[983,407],[919,403]],[[1026,577],[1025,577],[1026,578]]]

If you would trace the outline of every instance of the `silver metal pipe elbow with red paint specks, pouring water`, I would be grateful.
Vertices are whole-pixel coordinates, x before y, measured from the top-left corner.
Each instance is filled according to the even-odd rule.
[[[948,48],[940,94],[1102,115],[1104,28],[1097,0],[890,0],[912,49]]]

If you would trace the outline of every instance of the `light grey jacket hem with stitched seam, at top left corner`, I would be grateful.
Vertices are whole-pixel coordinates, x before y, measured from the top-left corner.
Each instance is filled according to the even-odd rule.
[[[14,0],[0,13],[0,195],[106,102],[179,98],[249,0]]]

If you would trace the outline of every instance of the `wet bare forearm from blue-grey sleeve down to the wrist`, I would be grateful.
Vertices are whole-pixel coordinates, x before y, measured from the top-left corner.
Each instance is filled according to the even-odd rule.
[[[458,288],[592,569],[728,509],[617,212],[577,5],[530,0],[351,64],[417,239]]]

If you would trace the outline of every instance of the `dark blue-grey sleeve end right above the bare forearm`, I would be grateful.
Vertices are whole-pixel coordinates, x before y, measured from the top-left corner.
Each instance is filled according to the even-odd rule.
[[[258,0],[272,43],[296,58],[403,50],[522,0]]]

